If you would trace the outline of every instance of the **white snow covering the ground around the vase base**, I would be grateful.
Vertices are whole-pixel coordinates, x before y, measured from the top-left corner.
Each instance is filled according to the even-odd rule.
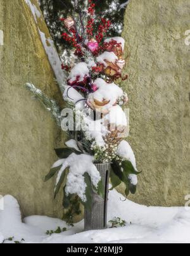
[[[117,191],[110,191],[108,220],[121,217],[126,227],[84,232],[84,222],[68,227],[64,221],[43,216],[27,217],[21,221],[18,202],[4,197],[0,211],[0,242],[13,237],[23,243],[190,243],[190,209],[185,207],[145,207],[137,205]],[[68,231],[47,236],[47,230],[58,226]],[[5,241],[5,243],[13,243]]]

